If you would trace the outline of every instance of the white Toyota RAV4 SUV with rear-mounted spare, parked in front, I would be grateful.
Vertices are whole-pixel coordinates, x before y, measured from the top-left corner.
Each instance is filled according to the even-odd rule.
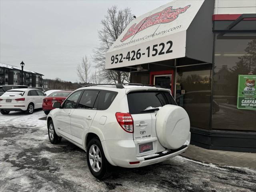
[[[110,165],[135,168],[184,152],[190,121],[170,90],[141,84],[90,85],[72,92],[47,116],[50,142],[62,137],[87,151],[99,179]]]

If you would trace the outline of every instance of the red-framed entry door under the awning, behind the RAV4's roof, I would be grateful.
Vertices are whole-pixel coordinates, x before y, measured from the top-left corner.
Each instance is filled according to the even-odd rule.
[[[170,89],[173,95],[173,74],[174,70],[150,72],[150,84],[160,86],[161,88]]]

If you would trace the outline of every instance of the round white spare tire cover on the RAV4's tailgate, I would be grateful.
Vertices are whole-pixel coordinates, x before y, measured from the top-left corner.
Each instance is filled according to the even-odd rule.
[[[182,107],[165,105],[157,112],[156,135],[165,148],[180,148],[186,142],[189,131],[189,117]]]

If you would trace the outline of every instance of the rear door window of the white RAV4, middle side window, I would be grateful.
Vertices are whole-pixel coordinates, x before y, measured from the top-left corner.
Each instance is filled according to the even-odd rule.
[[[99,94],[99,91],[97,90],[85,90],[77,108],[80,109],[92,109],[94,106],[94,103],[96,101],[96,98]]]

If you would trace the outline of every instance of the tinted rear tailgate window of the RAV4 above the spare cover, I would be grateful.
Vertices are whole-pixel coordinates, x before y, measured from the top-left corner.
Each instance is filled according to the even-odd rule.
[[[140,91],[127,94],[130,114],[145,113],[148,108],[177,105],[170,93],[165,91]],[[147,112],[148,113],[148,112]]]

